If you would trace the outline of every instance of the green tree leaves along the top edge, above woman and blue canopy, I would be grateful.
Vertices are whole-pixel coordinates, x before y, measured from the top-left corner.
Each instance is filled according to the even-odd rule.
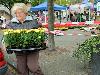
[[[14,3],[27,3],[31,2],[32,6],[39,5],[40,3],[43,3],[48,0],[0,0],[0,4],[4,5],[7,7],[9,10],[12,8]],[[66,4],[71,4],[75,2],[81,2],[81,0],[54,0],[55,3],[60,4],[60,5],[66,5]]]

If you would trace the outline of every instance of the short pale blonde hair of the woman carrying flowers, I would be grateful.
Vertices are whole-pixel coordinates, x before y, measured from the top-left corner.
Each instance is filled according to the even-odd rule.
[[[11,9],[11,13],[14,16],[17,9],[21,9],[24,13],[28,13],[28,7],[24,3],[15,3]]]

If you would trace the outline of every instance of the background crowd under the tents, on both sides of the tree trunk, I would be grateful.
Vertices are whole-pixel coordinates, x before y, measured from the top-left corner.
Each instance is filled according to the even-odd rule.
[[[44,11],[33,12],[33,17],[37,18],[39,22],[48,22],[48,13]],[[65,14],[64,14],[65,13]],[[55,11],[55,22],[85,22],[96,20],[96,11],[84,10],[84,12],[77,11]]]

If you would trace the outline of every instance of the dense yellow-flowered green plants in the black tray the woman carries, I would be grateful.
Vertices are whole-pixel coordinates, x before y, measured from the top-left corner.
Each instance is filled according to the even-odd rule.
[[[9,49],[28,49],[42,47],[46,39],[45,30],[39,29],[6,29],[4,43]]]

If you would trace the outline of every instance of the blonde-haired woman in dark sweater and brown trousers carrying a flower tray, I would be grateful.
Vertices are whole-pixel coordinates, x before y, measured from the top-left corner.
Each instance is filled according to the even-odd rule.
[[[12,13],[15,17],[7,25],[7,28],[32,29],[39,27],[37,22],[31,16],[28,16],[27,6],[25,4],[15,4],[12,8]],[[17,69],[19,75],[29,75],[29,71],[31,71],[33,75],[43,75],[38,63],[38,51],[34,52],[27,50],[14,52],[17,58]]]

